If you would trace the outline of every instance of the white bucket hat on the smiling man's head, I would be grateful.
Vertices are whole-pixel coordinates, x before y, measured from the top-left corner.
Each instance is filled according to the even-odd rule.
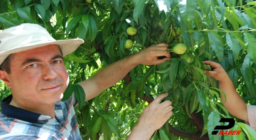
[[[0,65],[10,55],[49,44],[57,44],[66,56],[76,50],[84,40],[55,40],[38,24],[24,23],[0,32]]]

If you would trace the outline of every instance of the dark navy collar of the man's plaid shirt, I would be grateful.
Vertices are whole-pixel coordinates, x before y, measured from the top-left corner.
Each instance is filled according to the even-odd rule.
[[[42,114],[38,114],[35,112],[31,112],[28,110],[24,110],[22,108],[17,108],[15,106],[12,106],[10,105],[11,101],[12,101],[12,94],[10,96],[7,96],[6,98],[4,98],[4,100],[1,101],[2,114],[12,118],[16,118],[18,120],[23,120],[23,121],[32,122],[32,123],[38,122],[38,119],[41,120],[40,118],[42,118],[42,116],[45,116]],[[44,119],[42,120],[46,119],[45,117],[43,118]]]

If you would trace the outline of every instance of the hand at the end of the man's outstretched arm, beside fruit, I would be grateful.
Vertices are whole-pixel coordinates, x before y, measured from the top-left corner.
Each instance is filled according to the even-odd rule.
[[[170,61],[171,54],[170,52],[166,51],[167,49],[168,44],[166,43],[152,45],[146,49],[134,53],[133,60],[136,62],[136,65],[159,65],[163,62]],[[166,56],[166,58],[158,59],[158,56]]]

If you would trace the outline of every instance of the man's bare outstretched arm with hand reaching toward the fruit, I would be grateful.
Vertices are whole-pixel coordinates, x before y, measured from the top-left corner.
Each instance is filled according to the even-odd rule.
[[[79,82],[78,84],[82,86],[86,94],[85,101],[94,98],[106,88],[122,80],[139,64],[156,65],[169,61],[170,53],[166,51],[167,47],[168,44],[165,43],[150,46],[102,68],[88,80]],[[158,59],[157,56],[166,56],[166,58]]]

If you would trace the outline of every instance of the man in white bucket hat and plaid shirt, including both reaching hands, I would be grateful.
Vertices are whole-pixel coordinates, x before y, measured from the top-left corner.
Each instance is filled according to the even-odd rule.
[[[62,56],[72,53],[82,39],[54,40],[37,24],[21,24],[0,33],[0,79],[12,95],[1,102],[0,139],[80,140],[72,96],[61,102],[69,83]],[[120,81],[138,64],[154,65],[170,60],[167,44],[157,44],[136,52],[99,70],[78,84],[86,100]],[[157,56],[166,56],[158,59]],[[144,109],[129,140],[149,140],[172,116],[170,101],[160,104],[161,94]]]

